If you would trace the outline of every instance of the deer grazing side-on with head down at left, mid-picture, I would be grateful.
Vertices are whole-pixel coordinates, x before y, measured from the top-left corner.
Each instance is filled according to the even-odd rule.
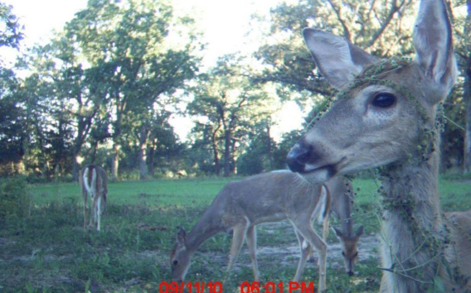
[[[327,193],[323,190],[323,185],[311,185],[289,170],[263,173],[227,184],[188,234],[182,228],[178,231],[170,254],[172,279],[184,279],[191,257],[203,241],[218,232],[233,230],[227,271],[234,265],[245,238],[254,278],[259,281],[255,226],[288,219],[301,248],[294,280],[300,280],[310,249],[303,245],[305,239],[319,254],[319,288],[325,290],[327,245],[310,224],[322,194]],[[326,202],[328,204],[329,200]]]

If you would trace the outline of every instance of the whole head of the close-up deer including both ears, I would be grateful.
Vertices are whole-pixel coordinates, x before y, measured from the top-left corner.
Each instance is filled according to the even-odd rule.
[[[416,59],[379,61],[330,33],[306,28],[319,71],[340,91],[323,118],[292,148],[290,169],[312,183],[417,156],[436,104],[456,76],[443,3],[423,2],[414,31]]]

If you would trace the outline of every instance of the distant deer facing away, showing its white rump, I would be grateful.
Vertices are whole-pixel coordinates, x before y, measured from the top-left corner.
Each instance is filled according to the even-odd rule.
[[[106,183],[108,177],[106,171],[98,165],[86,165],[80,172],[79,182],[82,188],[83,200],[83,227],[87,223],[88,200],[87,195],[90,194],[91,211],[89,226],[95,226],[100,231],[101,214],[106,205],[106,195],[108,189]]]

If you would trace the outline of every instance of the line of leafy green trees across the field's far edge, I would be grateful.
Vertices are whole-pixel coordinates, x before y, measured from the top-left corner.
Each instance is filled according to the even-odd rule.
[[[471,171],[471,0],[449,3],[449,12],[460,76],[444,105],[442,167]],[[28,48],[13,68],[2,64],[0,173],[76,179],[81,165],[97,163],[112,179],[146,179],[284,168],[302,133],[275,141],[281,105],[295,101],[307,126],[334,95],[302,28],[343,35],[377,56],[413,56],[414,13],[412,0],[282,3],[269,20],[254,16],[254,27],[269,27],[256,52],[222,56],[203,71],[204,32],[168,2],[89,0],[48,44]],[[0,20],[0,46],[18,48],[14,8],[0,3]],[[173,115],[195,123],[184,142]]]

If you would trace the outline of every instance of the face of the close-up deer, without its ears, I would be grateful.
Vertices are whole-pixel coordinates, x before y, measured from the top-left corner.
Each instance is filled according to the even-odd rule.
[[[369,69],[374,71],[374,65]],[[289,153],[291,170],[322,182],[407,159],[422,135],[419,112],[434,116],[433,105],[413,100],[425,95],[415,87],[426,83],[417,69],[406,65],[376,77],[380,84],[344,90]]]

